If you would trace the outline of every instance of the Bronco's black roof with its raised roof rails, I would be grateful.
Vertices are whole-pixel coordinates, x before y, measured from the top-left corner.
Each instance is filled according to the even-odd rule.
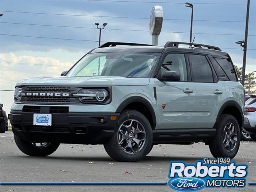
[[[179,47],[180,44],[188,45],[189,47]],[[206,48],[202,48],[206,47]],[[209,54],[216,58],[230,58],[228,53],[222,52],[216,46],[194,44],[189,42],[166,42],[164,46],[152,46],[148,44],[136,44],[125,42],[107,42],[100,47],[92,50],[90,53],[103,52],[148,52],[148,53],[162,53],[162,52],[190,52],[199,54]]]

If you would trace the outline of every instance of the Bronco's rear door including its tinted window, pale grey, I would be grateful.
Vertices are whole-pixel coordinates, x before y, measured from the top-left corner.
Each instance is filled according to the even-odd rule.
[[[188,54],[192,82],[196,85],[196,128],[212,128],[226,96],[206,55]]]

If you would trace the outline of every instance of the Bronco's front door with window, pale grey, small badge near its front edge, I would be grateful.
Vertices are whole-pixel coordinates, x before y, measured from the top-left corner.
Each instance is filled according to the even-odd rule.
[[[167,54],[159,76],[166,70],[180,74],[179,82],[162,82],[155,79],[158,125],[156,129],[194,128],[196,86],[188,81],[188,67],[182,53]]]

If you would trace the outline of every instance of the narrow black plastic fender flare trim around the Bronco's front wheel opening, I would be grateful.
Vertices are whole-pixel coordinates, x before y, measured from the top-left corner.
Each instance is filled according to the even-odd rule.
[[[144,104],[145,106],[147,106],[148,110],[150,111],[150,114],[152,116],[152,122],[153,122],[153,127],[152,129],[155,129],[156,127],[156,114],[154,111],[154,108],[152,107],[152,105],[150,104],[150,102],[148,102],[148,100],[146,100],[145,98],[141,97],[141,96],[131,96],[129,98],[127,98],[126,100],[124,100],[116,109],[116,113],[121,113],[122,110],[131,103],[134,102],[140,102],[142,104]]]

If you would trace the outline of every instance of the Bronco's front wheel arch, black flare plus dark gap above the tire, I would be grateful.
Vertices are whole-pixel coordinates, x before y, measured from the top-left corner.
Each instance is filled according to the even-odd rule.
[[[116,109],[116,113],[132,109],[142,113],[150,122],[152,130],[156,127],[156,114],[150,102],[141,96],[132,96],[124,100]]]

